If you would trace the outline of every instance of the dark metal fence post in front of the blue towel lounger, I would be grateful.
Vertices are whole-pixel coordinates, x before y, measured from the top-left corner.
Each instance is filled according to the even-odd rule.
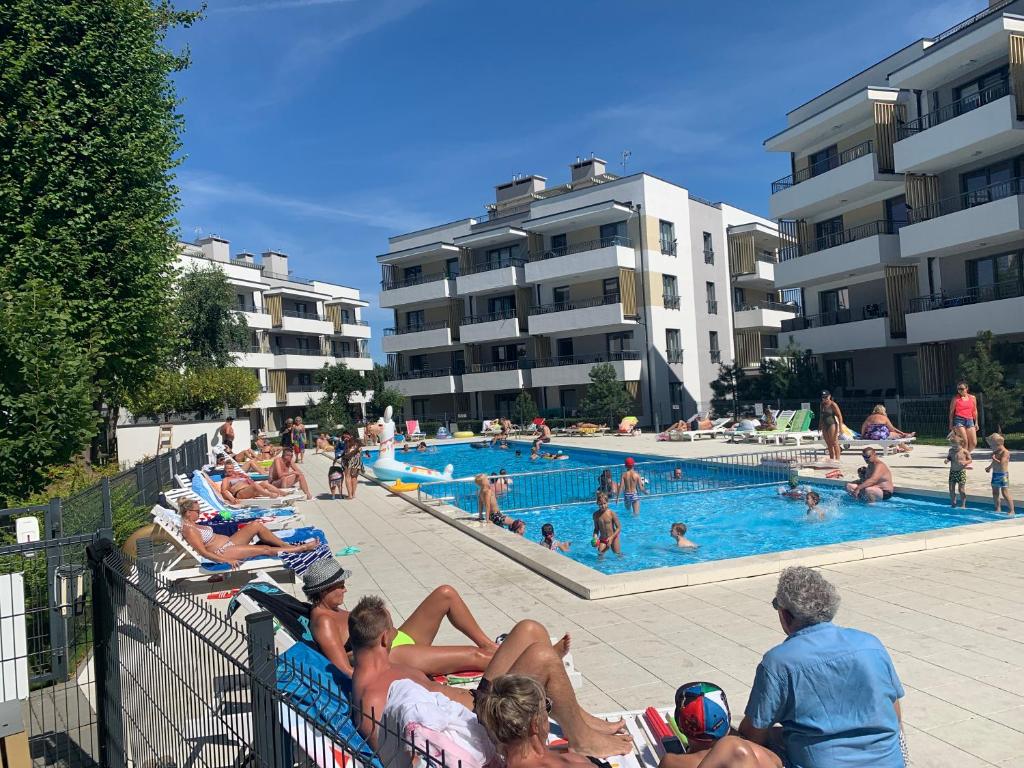
[[[278,658],[273,652],[273,616],[263,610],[246,616],[249,670],[252,674],[253,752],[259,765],[284,766],[285,744],[281,737],[278,702]]]

